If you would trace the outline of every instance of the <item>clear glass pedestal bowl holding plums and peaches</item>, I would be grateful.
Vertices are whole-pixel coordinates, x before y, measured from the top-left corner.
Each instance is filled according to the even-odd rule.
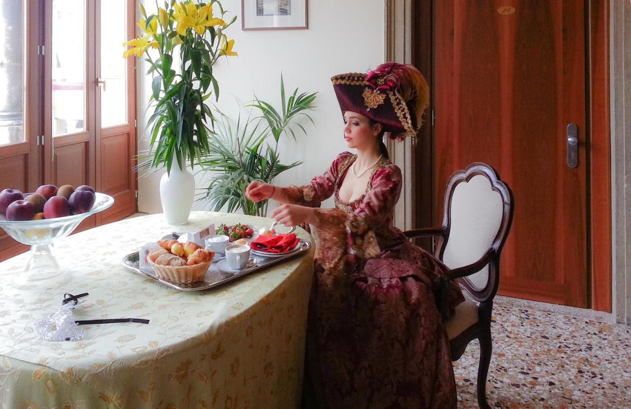
[[[25,194],[25,197],[29,193]],[[0,215],[0,228],[6,234],[24,245],[31,246],[30,258],[24,269],[13,276],[15,287],[27,287],[42,280],[59,280],[66,274],[57,263],[52,251],[52,243],[57,238],[66,237],[86,217],[102,212],[114,204],[114,198],[105,193],[96,193],[97,200],[89,212],[55,219],[9,221]]]

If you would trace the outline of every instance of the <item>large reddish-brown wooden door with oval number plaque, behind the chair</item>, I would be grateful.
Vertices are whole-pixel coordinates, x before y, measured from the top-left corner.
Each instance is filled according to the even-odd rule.
[[[500,294],[586,307],[585,2],[433,8],[435,209],[452,171],[492,165],[515,198]],[[569,124],[578,129],[576,167],[567,163]]]

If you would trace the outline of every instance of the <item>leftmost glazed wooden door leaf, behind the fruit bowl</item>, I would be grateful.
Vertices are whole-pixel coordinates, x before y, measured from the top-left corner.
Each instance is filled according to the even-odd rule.
[[[8,0],[0,3],[0,190],[33,192],[40,171],[42,4]],[[0,229],[0,260],[27,250]]]

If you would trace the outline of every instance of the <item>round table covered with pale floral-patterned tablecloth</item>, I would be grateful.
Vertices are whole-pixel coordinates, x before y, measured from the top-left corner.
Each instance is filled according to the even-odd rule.
[[[271,219],[192,212],[187,224],[170,226],[155,214],[77,233],[55,245],[71,270],[61,285],[18,291],[9,283],[27,255],[0,263],[0,407],[298,407],[314,247],[206,291],[178,291],[121,265],[172,231],[236,222]],[[76,320],[150,323],[83,325],[86,337],[76,342],[40,339],[35,321],[60,308],[64,293],[83,292],[90,295]]]

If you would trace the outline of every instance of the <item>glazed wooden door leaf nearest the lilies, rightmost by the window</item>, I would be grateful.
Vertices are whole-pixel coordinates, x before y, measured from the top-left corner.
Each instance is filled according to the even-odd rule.
[[[114,197],[97,214],[97,225],[120,220],[137,209],[136,81],[134,59],[122,58],[122,43],[135,35],[133,0],[98,0],[96,19],[96,186]]]

